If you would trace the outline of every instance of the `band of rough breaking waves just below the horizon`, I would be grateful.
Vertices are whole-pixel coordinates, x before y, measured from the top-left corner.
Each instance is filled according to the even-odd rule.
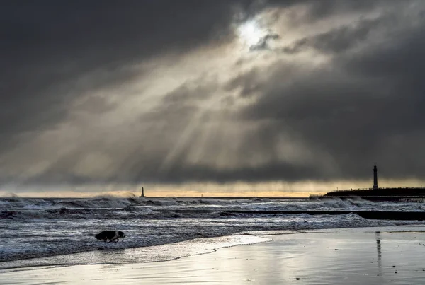
[[[3,198],[0,219],[166,219],[231,216],[232,211],[424,211],[423,203],[362,199]]]

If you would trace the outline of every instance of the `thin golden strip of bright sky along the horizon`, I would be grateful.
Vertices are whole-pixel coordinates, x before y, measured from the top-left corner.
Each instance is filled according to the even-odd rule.
[[[423,180],[381,179],[382,187],[417,187],[425,185]],[[0,189],[0,197],[139,197],[142,186],[145,195],[151,197],[308,197],[309,194],[324,194],[333,190],[358,189],[372,186],[370,180],[300,181],[300,182],[189,182],[181,185],[96,185],[69,187],[11,187]]]

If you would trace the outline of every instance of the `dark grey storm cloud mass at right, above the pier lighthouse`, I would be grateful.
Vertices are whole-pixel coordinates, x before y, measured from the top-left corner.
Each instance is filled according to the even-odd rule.
[[[331,157],[335,169],[323,173],[327,161],[315,161],[306,178],[368,178],[370,165],[378,163],[387,178],[424,179],[425,19],[419,16],[413,25],[411,20],[366,21],[303,40],[302,45],[332,54],[331,62],[290,78],[281,76],[290,66],[283,62],[246,117],[269,120]],[[341,53],[374,29],[378,40],[368,38],[362,48]],[[279,84],[281,78],[288,81]],[[267,136],[273,139],[276,132]]]

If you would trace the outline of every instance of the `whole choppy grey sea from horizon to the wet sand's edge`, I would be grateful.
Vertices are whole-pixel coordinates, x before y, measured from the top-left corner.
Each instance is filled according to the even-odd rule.
[[[278,212],[319,210],[344,213]],[[356,211],[425,211],[425,204],[305,198],[0,198],[0,270],[159,262],[263,243],[276,234],[425,225],[363,219]],[[104,230],[126,236],[118,243],[96,240],[96,233]]]

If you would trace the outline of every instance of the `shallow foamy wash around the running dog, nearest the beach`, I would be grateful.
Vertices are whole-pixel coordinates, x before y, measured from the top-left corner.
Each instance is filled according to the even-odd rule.
[[[35,257],[87,252],[91,250],[140,248],[177,243],[195,238],[251,234],[256,231],[301,231],[323,228],[394,226],[397,221],[363,219],[357,214],[274,215],[157,220],[17,220],[13,226],[0,222],[0,260],[13,261]],[[94,235],[104,229],[124,231],[120,243],[103,243]],[[13,236],[13,239],[9,238]],[[7,263],[7,262],[6,262]],[[8,264],[0,262],[0,268]]]

